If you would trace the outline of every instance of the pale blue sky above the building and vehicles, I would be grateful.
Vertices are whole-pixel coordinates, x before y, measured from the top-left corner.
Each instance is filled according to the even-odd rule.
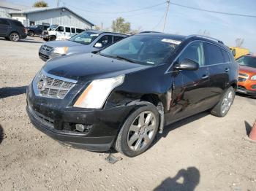
[[[2,0],[0,0],[2,1]],[[35,0],[7,0],[31,6]],[[57,0],[45,0],[49,7],[56,7]],[[117,17],[131,23],[132,29],[142,31],[162,31],[167,5],[165,0],[59,0],[60,6],[68,7],[97,26],[110,28]],[[255,0],[170,0],[186,6],[231,12],[243,15],[256,15]],[[157,7],[152,5],[161,4]],[[141,9],[143,7],[151,7]],[[129,10],[140,9],[135,12]],[[88,12],[89,10],[89,12]],[[122,13],[120,13],[122,12]],[[165,32],[170,34],[202,34],[203,31],[214,38],[221,39],[228,46],[235,46],[236,39],[244,39],[243,47],[256,52],[256,17],[240,17],[201,12],[170,4]]]

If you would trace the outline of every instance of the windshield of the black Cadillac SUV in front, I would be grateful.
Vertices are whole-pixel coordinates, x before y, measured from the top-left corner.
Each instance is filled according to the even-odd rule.
[[[146,65],[159,65],[180,44],[162,36],[135,35],[123,39],[100,52],[100,55]]]

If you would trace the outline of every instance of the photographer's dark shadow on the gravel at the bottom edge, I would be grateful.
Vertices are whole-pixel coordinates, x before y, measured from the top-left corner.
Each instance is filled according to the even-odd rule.
[[[161,190],[186,190],[193,191],[200,182],[200,172],[195,167],[189,167],[178,171],[173,178],[165,179],[154,191]]]

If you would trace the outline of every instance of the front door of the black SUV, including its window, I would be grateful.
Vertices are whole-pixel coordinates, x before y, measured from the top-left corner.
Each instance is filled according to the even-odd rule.
[[[190,43],[184,48],[174,64],[180,63],[186,58],[197,62],[200,67],[196,71],[171,71],[173,93],[169,112],[165,117],[168,123],[202,112],[207,107],[209,71],[208,67],[205,66],[203,42]]]

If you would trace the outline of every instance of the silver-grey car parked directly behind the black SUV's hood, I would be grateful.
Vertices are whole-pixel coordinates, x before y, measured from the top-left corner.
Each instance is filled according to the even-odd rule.
[[[39,58],[48,61],[61,55],[71,55],[74,53],[89,53],[101,50],[121,39],[127,37],[125,34],[116,34],[103,31],[83,31],[72,36],[66,41],[45,42],[39,48]]]

